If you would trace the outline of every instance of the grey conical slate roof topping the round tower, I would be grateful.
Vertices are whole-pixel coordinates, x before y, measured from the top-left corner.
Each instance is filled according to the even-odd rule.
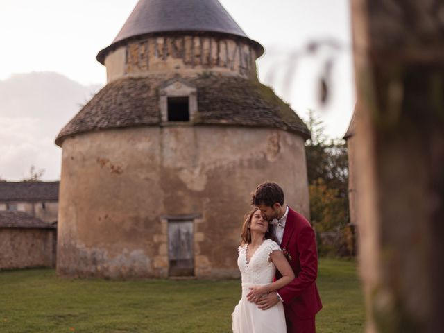
[[[129,38],[173,32],[222,33],[246,38],[264,53],[258,42],[246,33],[218,0],[139,0],[112,44],[97,54],[103,64],[106,53]]]

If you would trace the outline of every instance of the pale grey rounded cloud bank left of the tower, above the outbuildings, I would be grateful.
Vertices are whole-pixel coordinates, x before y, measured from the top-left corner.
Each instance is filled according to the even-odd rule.
[[[15,74],[0,80],[0,178],[21,180],[29,168],[60,177],[60,129],[101,85],[84,86],[54,72]]]

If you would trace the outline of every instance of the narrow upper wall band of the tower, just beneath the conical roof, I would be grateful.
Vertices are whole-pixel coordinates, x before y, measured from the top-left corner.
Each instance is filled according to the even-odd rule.
[[[257,78],[257,52],[243,40],[203,36],[147,37],[111,51],[108,82],[124,76],[215,74]]]

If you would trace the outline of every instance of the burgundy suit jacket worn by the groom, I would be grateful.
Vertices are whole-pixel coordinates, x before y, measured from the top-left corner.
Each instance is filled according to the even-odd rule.
[[[293,281],[278,290],[284,300],[285,316],[289,321],[313,318],[322,308],[316,287],[316,237],[309,221],[290,207],[280,247],[284,253],[289,253],[286,257],[295,275]],[[280,277],[277,272],[276,278]]]

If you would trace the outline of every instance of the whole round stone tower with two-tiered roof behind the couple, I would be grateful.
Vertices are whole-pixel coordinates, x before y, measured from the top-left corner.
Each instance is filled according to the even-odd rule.
[[[97,55],[108,84],[59,133],[60,275],[233,277],[250,191],[309,214],[309,131],[259,83],[217,0],[140,0]]]

